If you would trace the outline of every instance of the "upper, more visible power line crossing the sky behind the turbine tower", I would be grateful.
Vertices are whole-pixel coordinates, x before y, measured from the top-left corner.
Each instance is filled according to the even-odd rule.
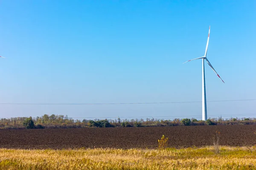
[[[241,100],[213,100],[207,102],[236,102],[236,101],[253,101],[256,99]],[[139,105],[139,104],[169,104],[169,103],[198,103],[196,102],[134,102],[134,103],[0,103],[0,105]]]

